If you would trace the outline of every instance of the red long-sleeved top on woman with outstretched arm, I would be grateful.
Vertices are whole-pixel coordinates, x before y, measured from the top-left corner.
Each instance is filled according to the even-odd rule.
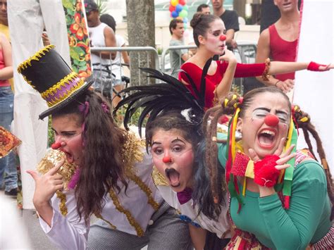
[[[205,108],[211,108],[214,106],[214,90],[216,89],[216,86],[221,82],[223,79],[224,73],[226,71],[226,68],[228,68],[228,63],[225,61],[216,61],[217,63],[217,70],[214,75],[206,75],[206,88],[205,88]],[[254,63],[254,64],[243,64],[243,63],[237,63],[237,68],[235,69],[234,77],[254,77],[258,75],[262,75],[264,73],[264,69],[266,68],[266,65],[264,63]],[[185,70],[185,72],[190,75],[192,78],[192,81],[196,85],[197,89],[199,89],[199,86],[201,85],[201,77],[202,77],[202,68],[199,68],[194,63],[183,63],[181,65],[181,69]],[[179,80],[183,80],[184,82],[189,82],[187,80],[187,76],[185,73],[180,72],[178,75]],[[185,85],[188,89],[190,89],[190,92],[192,92],[193,95],[194,92],[192,90],[192,86]]]

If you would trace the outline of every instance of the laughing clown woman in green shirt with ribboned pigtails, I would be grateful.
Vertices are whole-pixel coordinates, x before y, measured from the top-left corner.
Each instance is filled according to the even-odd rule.
[[[228,138],[218,143],[216,124],[232,114]],[[235,235],[227,249],[333,249],[333,180],[321,139],[307,113],[291,106],[274,87],[253,89],[240,98],[228,95],[207,111],[206,167],[215,201],[218,182],[225,179],[230,194],[230,218]],[[309,151],[296,151],[297,129]],[[235,139],[235,132],[242,139]],[[316,140],[321,163],[314,160],[309,133]],[[218,158],[217,158],[218,154]],[[219,175],[221,166],[225,177]],[[261,244],[260,244],[261,243]]]

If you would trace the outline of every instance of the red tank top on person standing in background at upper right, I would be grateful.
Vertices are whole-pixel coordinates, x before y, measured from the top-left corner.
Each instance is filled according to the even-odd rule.
[[[271,58],[273,61],[296,61],[298,39],[295,39],[293,42],[283,40],[280,35],[278,35],[275,25],[269,26],[269,35]],[[276,75],[276,78],[281,81],[295,79],[295,73]]]

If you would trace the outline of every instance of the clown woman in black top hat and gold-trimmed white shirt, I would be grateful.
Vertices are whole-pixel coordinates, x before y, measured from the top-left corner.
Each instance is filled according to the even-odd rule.
[[[47,101],[55,142],[37,166],[33,203],[60,249],[187,249],[187,225],[153,184],[151,156],[109,104],[47,46],[18,71]],[[97,220],[90,225],[91,215]],[[154,237],[152,237],[154,235]],[[173,239],[173,240],[171,240]]]

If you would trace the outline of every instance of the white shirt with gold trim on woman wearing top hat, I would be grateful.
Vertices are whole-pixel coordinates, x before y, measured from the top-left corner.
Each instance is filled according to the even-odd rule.
[[[151,156],[144,154],[143,161],[135,164],[134,171],[137,177],[140,177],[142,182],[151,190],[151,196],[154,201],[161,204],[163,199],[151,178],[152,167]],[[142,230],[145,231],[147,225],[149,225],[148,223],[151,216],[155,212],[154,208],[147,203],[147,194],[132,180],[128,182],[126,194],[124,193],[125,187],[123,187],[121,182],[118,182],[118,185],[122,187],[120,193],[117,194],[118,201],[120,201],[121,206],[125,208],[125,210],[130,211],[132,217],[140,225]],[[39,218],[39,223],[51,242],[54,242],[54,244],[61,249],[86,249],[89,221],[85,222],[83,218],[79,220],[74,190],[64,192],[64,194],[66,194],[68,214],[66,216],[61,215],[59,211],[60,200],[54,195],[51,199],[51,205],[54,208],[51,227],[49,227],[42,218]],[[137,235],[135,227],[130,225],[124,213],[116,209],[109,194],[106,194],[104,201],[105,205],[101,212],[104,220],[108,220],[109,223],[116,227],[116,230],[127,232],[131,235]]]

